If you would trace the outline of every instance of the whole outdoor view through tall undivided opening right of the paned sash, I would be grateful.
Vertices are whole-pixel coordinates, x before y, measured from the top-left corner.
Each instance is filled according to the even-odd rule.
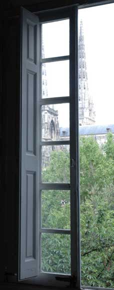
[[[78,14],[81,284],[104,288],[114,288],[113,12]]]

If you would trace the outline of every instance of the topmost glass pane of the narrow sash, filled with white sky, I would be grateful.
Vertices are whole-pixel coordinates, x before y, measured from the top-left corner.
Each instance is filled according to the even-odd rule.
[[[42,58],[69,54],[69,19],[42,24]]]

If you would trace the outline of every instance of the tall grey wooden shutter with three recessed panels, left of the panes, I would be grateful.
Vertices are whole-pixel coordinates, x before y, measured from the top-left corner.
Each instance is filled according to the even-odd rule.
[[[21,173],[19,279],[37,275],[37,113],[39,95],[39,22],[21,14]]]

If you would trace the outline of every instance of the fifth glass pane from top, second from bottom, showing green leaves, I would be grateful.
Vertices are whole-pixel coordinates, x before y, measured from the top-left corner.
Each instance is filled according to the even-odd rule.
[[[45,228],[70,228],[70,191],[41,191],[41,223]]]

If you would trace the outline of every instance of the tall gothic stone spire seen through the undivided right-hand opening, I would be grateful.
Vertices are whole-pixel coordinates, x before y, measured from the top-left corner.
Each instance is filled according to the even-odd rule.
[[[78,97],[79,97],[79,125],[92,125],[95,122],[95,111],[92,98],[88,93],[88,80],[84,49],[82,20],[80,21],[78,43]]]

